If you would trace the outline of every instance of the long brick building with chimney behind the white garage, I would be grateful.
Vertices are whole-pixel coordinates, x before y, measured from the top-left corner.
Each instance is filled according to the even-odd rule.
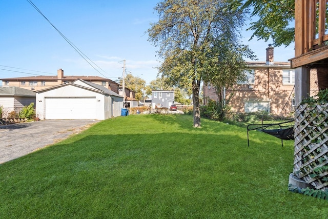
[[[3,87],[15,86],[32,91],[47,89],[56,85],[74,82],[76,79],[83,79],[106,87],[107,89],[119,93],[119,84],[111,79],[99,76],[66,76],[64,70],[58,69],[57,76],[29,76],[29,77],[12,77],[0,78],[3,81]]]

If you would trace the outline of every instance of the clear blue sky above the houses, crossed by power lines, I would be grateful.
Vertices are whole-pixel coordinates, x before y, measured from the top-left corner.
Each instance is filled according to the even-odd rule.
[[[147,83],[156,78],[156,48],[145,33],[158,17],[158,1],[32,0],[81,52],[104,71],[92,68],[26,0],[0,3],[0,78],[33,75],[98,75],[116,80],[126,69]],[[244,29],[246,29],[245,27]],[[269,43],[243,31],[244,44],[265,61]],[[274,61],[294,57],[294,45],[274,50]],[[19,72],[15,72],[19,71]]]

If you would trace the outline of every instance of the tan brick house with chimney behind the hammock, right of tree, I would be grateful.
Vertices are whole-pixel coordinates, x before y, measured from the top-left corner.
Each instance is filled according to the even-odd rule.
[[[269,45],[266,62],[248,62],[252,73],[246,73],[247,81],[237,82],[225,90],[225,98],[230,98],[232,112],[265,111],[289,116],[294,111],[295,70],[291,69],[289,62],[274,62],[273,58],[274,48]],[[203,86],[203,96],[205,105],[207,98],[218,99],[211,84]]]

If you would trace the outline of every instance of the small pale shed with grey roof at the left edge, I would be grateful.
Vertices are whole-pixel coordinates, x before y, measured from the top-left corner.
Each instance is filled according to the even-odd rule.
[[[0,87],[0,107],[3,108],[3,117],[15,111],[19,111],[24,107],[34,103],[35,93],[20,87]],[[1,117],[1,115],[0,115]]]

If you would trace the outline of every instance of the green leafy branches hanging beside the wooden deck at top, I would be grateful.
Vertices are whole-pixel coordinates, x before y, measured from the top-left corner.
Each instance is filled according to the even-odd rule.
[[[253,9],[251,16],[258,18],[248,30],[253,37],[267,42],[273,39],[273,46],[289,46],[294,42],[295,0],[244,0],[244,8]]]

